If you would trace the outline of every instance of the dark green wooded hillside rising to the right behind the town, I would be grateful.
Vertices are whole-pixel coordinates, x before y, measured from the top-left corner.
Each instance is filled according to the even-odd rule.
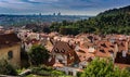
[[[75,23],[53,23],[52,31],[63,35],[77,35],[80,33],[92,34],[123,34],[130,35],[130,5],[119,9],[107,10],[95,17],[78,21]]]

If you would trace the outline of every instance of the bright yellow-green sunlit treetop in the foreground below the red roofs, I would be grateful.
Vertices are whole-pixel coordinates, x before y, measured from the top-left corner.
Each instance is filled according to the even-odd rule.
[[[81,74],[81,77],[129,77],[130,73],[126,69],[114,67],[112,61],[93,60]]]

